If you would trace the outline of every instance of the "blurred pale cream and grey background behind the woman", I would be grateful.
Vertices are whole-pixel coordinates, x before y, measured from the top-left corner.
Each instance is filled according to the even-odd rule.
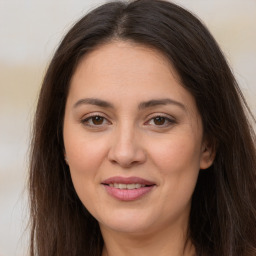
[[[60,39],[100,0],[0,0],[0,256],[28,255],[27,165],[43,75]],[[176,0],[208,26],[256,114],[256,0]]]

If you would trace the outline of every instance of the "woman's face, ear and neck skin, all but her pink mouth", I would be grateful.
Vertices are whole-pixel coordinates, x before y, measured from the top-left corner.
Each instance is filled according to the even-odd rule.
[[[167,98],[176,103],[139,108]],[[103,255],[194,255],[193,245],[185,246],[191,196],[214,154],[194,98],[160,52],[112,41],[84,56],[71,80],[63,137],[76,192],[100,224]],[[101,184],[113,176],[156,185],[120,201]]]

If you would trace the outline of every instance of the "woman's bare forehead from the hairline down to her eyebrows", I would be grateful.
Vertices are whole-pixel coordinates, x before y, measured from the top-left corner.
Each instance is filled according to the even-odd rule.
[[[194,107],[170,61],[158,50],[132,42],[99,46],[80,61],[71,79],[68,98],[106,101],[148,101],[174,98]]]

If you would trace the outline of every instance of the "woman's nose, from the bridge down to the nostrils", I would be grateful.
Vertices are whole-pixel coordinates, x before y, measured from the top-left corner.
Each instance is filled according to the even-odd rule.
[[[123,168],[131,168],[146,161],[146,151],[134,128],[120,127],[113,132],[108,159]]]

